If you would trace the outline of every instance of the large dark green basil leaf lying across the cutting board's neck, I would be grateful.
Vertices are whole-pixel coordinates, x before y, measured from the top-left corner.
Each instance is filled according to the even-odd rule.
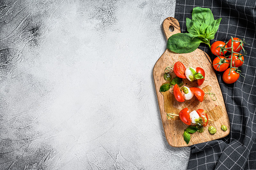
[[[167,41],[167,48],[176,53],[189,53],[195,51],[202,41],[190,33],[177,33]]]

